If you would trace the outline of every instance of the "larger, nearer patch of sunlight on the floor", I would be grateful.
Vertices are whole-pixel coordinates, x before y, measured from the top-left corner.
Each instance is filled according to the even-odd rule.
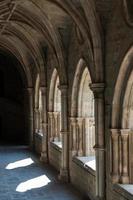
[[[33,178],[33,179],[30,179],[23,183],[20,183],[17,186],[16,191],[17,192],[26,192],[31,189],[41,188],[50,182],[51,182],[50,179],[46,175],[42,175],[37,178]]]

